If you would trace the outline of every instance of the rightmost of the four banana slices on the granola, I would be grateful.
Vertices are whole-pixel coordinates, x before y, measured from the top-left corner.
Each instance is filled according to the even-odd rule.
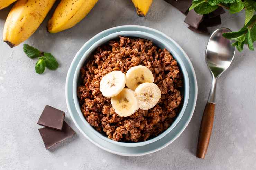
[[[161,97],[161,91],[154,83],[140,84],[135,89],[135,93],[139,99],[139,108],[143,110],[153,108]]]

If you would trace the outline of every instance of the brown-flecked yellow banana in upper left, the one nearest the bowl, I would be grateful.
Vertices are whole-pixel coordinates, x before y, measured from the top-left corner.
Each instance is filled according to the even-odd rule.
[[[57,33],[73,27],[94,7],[98,0],[61,0],[52,18],[48,21],[50,33]]]

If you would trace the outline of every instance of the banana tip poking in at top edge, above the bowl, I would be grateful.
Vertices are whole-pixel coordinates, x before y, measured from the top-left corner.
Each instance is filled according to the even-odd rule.
[[[143,17],[146,16],[151,6],[152,0],[132,0],[132,3],[136,8],[137,14]]]

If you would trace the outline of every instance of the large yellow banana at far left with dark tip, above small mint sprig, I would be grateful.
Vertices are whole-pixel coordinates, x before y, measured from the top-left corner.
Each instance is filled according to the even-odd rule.
[[[18,0],[7,16],[3,41],[11,48],[29,38],[43,22],[55,0]]]

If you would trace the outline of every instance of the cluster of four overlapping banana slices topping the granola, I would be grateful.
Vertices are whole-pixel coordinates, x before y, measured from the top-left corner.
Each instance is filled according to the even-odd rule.
[[[134,66],[126,74],[121,71],[106,74],[100,81],[100,91],[103,96],[111,97],[115,112],[126,117],[139,108],[148,110],[157,104],[161,91],[153,82],[154,76],[147,67]]]

